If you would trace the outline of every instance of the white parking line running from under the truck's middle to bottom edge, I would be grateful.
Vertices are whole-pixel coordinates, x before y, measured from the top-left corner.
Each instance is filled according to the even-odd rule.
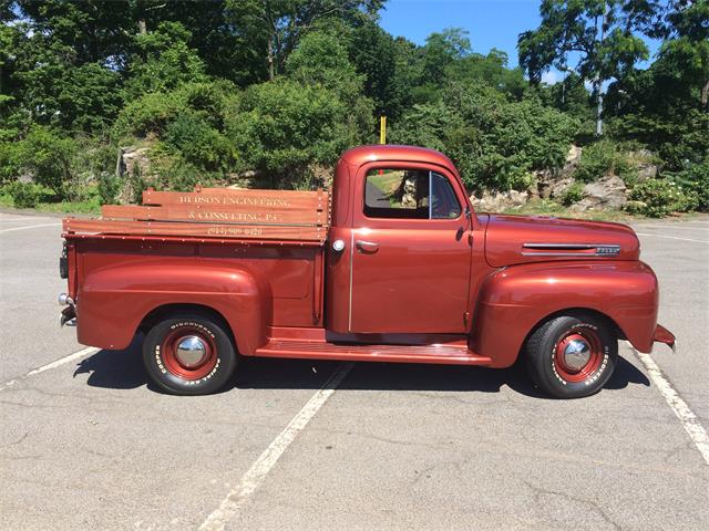
[[[288,449],[288,446],[296,439],[298,434],[308,425],[310,419],[318,413],[335,389],[342,383],[342,379],[352,369],[353,363],[348,363],[338,368],[325,383],[308,403],[302,406],[286,428],[274,439],[266,450],[251,465],[251,468],[242,477],[226,498],[207,519],[199,525],[199,531],[222,531],[226,524],[239,511],[248,498],[256,492],[260,485],[274,468],[280,456]]]

